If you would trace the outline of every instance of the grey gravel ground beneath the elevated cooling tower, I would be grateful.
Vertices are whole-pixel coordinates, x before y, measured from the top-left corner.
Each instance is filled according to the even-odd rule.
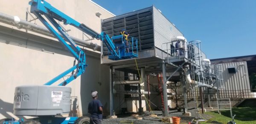
[[[193,118],[195,117],[199,117],[199,118],[205,118],[205,119],[209,119],[211,118],[210,116],[207,115],[203,115],[200,113],[195,113],[195,110],[189,110],[189,112],[191,113],[191,117],[187,117],[187,116],[182,116],[182,112],[178,112],[177,110],[169,110],[169,116],[177,116],[181,118],[181,122],[180,124],[187,124],[187,122],[191,122]],[[157,117],[151,117],[149,115],[151,114],[155,114],[157,115]],[[164,122],[161,122],[162,116],[162,111],[151,111],[151,112],[144,112],[144,114],[142,116],[139,117],[143,117],[142,120],[137,120],[136,118],[132,117],[131,114],[135,114],[135,113],[127,113],[124,115],[117,115],[118,118],[114,118],[114,119],[103,119],[103,124],[166,124]]]

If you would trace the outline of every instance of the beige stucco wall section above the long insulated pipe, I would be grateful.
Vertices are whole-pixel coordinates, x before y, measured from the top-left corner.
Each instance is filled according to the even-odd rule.
[[[29,1],[30,0],[0,0],[0,12],[4,14],[9,14],[11,16],[18,16],[21,20],[26,20],[27,8],[28,11],[30,11],[30,6],[28,4]],[[101,19],[106,19],[114,16],[112,13],[106,11],[104,8],[100,6],[97,6],[90,0],[48,0],[47,2],[54,6],[55,8],[57,8],[58,10],[62,11],[64,14],[67,14],[79,23],[84,23],[85,25],[97,31],[98,33],[101,32]],[[97,17],[97,12],[101,13],[102,15],[100,17]],[[33,14],[32,16],[35,17],[35,15]],[[33,18],[28,14],[28,21],[29,20],[33,20]],[[39,20],[31,22],[43,26],[43,24]],[[68,34],[70,34],[73,37],[82,39],[82,31],[70,25],[64,25],[62,23],[61,25],[64,26],[64,28],[67,30],[71,29],[71,31],[69,31]],[[17,29],[16,27],[14,28]],[[28,32],[33,33],[31,31]],[[89,38],[84,36],[84,40],[91,39],[89,35],[87,36]],[[100,41],[97,39],[91,40],[91,42],[100,45]]]

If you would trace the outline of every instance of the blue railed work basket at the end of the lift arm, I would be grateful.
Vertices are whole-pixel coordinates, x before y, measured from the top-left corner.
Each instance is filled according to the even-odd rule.
[[[108,59],[120,60],[120,59],[131,59],[138,57],[138,40],[135,37],[128,37],[128,45],[126,45],[126,40],[123,35],[117,35],[111,37],[113,44],[116,46],[115,51],[119,56],[113,56],[113,54],[108,54]],[[108,45],[107,45],[108,47]],[[111,53],[112,51],[108,51]]]

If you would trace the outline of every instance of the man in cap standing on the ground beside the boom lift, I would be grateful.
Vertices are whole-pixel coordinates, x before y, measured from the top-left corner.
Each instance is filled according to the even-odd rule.
[[[97,91],[92,93],[93,101],[88,105],[88,113],[91,114],[90,124],[102,124],[102,103],[98,100]]]

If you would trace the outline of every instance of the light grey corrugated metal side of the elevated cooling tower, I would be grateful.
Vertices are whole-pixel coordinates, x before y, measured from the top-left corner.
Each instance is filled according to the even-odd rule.
[[[153,6],[153,25],[155,47],[166,50],[165,42],[171,42],[173,37],[183,34],[156,7]],[[174,42],[175,44],[175,42]],[[171,49],[171,46],[167,46]]]

